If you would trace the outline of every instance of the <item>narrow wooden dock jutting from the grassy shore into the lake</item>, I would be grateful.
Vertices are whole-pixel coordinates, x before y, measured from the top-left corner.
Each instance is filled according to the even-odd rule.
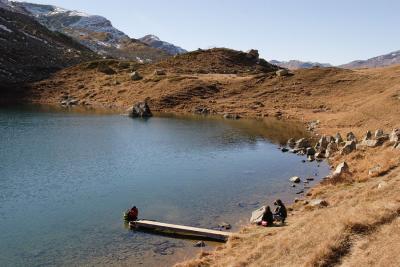
[[[144,228],[154,231],[168,232],[178,235],[190,235],[195,237],[204,237],[207,239],[214,239],[218,241],[226,241],[233,233],[211,230],[205,228],[197,228],[185,225],[177,225],[170,223],[162,223],[148,220],[138,220],[129,223],[133,228]]]

